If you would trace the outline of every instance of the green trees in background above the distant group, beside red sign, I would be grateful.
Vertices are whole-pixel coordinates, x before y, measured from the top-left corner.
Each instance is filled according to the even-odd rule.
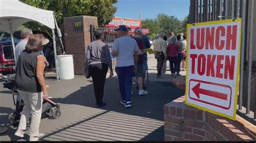
[[[164,32],[169,36],[173,31],[176,35],[183,32],[186,34],[187,17],[184,20],[179,20],[175,16],[168,16],[160,13],[156,19],[142,20],[142,27],[150,29],[150,38],[156,38],[160,32]]]

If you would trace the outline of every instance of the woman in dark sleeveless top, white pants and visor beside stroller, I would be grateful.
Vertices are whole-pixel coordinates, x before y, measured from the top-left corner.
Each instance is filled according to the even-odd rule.
[[[16,65],[15,87],[24,101],[18,130],[15,135],[23,138],[26,123],[31,115],[29,141],[38,141],[44,137],[39,133],[39,125],[42,116],[43,98],[47,99],[48,86],[44,80],[44,56],[39,53],[43,45],[49,42],[41,34],[31,35],[25,50],[19,55]]]

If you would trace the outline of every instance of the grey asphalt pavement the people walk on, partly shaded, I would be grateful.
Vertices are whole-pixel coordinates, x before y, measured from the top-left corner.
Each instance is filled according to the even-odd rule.
[[[149,56],[149,83],[145,80],[148,95],[138,96],[133,85],[132,108],[120,104],[117,76],[107,78],[103,108],[98,108],[92,79],[75,75],[72,80],[56,81],[46,75],[52,101],[60,104],[59,119],[44,118],[39,131],[45,134],[43,141],[164,141],[164,105],[183,96],[184,93],[171,83],[170,70],[156,78],[156,60]],[[167,69],[169,67],[167,66]],[[114,73],[115,74],[115,73]],[[107,75],[108,76],[108,75]],[[181,76],[185,78],[185,71]],[[29,140],[15,137],[17,127],[9,125],[8,116],[14,112],[11,91],[0,82],[0,125],[8,131],[0,134],[0,141]]]

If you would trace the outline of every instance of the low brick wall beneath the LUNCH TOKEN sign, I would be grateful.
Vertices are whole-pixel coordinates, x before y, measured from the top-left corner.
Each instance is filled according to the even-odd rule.
[[[185,105],[182,96],[164,106],[166,141],[255,141],[238,121]],[[255,126],[237,116],[255,134]]]

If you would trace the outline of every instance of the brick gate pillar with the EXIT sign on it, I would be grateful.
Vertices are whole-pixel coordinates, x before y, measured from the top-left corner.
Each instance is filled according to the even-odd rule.
[[[73,55],[74,72],[84,75],[85,52],[90,40],[90,25],[98,25],[97,17],[76,16],[64,18],[66,54]]]

